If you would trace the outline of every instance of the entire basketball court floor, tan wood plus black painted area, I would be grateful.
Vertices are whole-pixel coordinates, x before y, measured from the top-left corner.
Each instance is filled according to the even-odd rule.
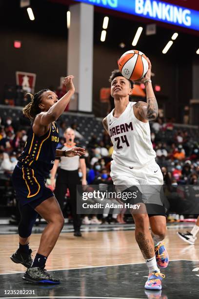
[[[0,298],[199,298],[199,242],[188,245],[176,235],[178,230],[191,226],[193,224],[168,225],[165,244],[170,263],[162,270],[166,278],[161,291],[144,289],[148,270],[135,241],[134,225],[83,226],[83,236],[79,238],[67,233],[71,228],[65,226],[46,264],[46,269],[61,279],[56,286],[38,286],[21,279],[25,268],[9,258],[18,246],[17,228],[2,226]],[[38,248],[42,225],[35,230],[30,244],[33,255]],[[5,294],[6,290],[11,292]],[[14,295],[12,290],[27,293]],[[28,294],[29,290],[34,294]]]

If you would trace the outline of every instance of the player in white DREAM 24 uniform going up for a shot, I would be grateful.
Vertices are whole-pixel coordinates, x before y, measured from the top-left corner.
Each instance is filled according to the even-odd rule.
[[[111,96],[114,98],[115,109],[103,119],[103,126],[109,133],[114,147],[111,162],[111,177],[114,185],[127,186],[128,191],[131,190],[129,186],[134,187],[134,190],[139,186],[139,190],[142,190],[143,186],[146,189],[148,185],[149,190],[151,188],[155,190],[155,194],[156,189],[159,189],[158,186],[161,188],[163,184],[163,177],[159,165],[155,162],[156,153],[150,137],[149,120],[157,118],[158,103],[151,84],[149,60],[148,63],[149,69],[145,78],[139,81],[146,87],[146,103],[129,102],[129,97],[133,93],[133,82],[124,78],[119,70],[112,72]],[[151,187],[151,185],[155,186]],[[143,195],[141,192],[140,194]],[[131,214],[136,226],[136,241],[149,268],[145,288],[159,290],[161,280],[164,278],[159,267],[167,267],[169,259],[164,243],[161,242],[166,232],[165,212],[160,196],[158,195],[158,200],[155,197],[152,195],[154,199],[152,206],[158,206],[160,212],[147,211],[148,215],[144,212],[133,214],[131,211]],[[134,203],[141,203],[141,207],[145,208],[141,197],[134,200]]]

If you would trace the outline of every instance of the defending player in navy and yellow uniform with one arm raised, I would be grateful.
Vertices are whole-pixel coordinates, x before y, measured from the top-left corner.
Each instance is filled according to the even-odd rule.
[[[43,89],[31,97],[23,114],[32,120],[27,142],[12,175],[19,199],[19,249],[10,258],[27,267],[24,279],[33,283],[60,283],[44,269],[47,257],[53,250],[64,224],[64,218],[53,192],[46,187],[45,178],[53,168],[55,157],[74,157],[84,149],[58,150],[58,128],[55,121],[65,110],[75,92],[73,76],[64,79],[68,92],[58,101],[57,95]],[[40,214],[46,222],[38,252],[32,262],[29,240],[33,225]]]

